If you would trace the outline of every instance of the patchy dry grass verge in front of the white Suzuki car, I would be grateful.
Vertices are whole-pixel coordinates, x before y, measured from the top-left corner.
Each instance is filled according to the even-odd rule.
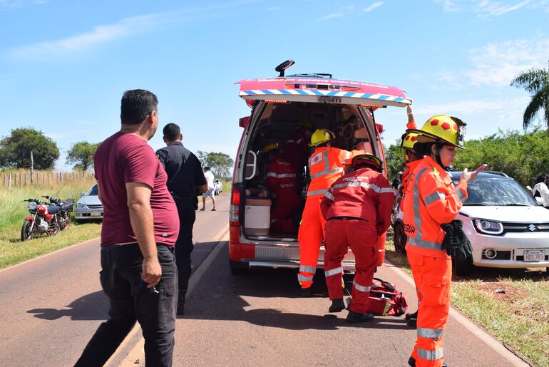
[[[411,274],[387,235],[386,258]],[[506,291],[505,294],[496,291]],[[549,275],[543,269],[475,268],[452,277],[452,305],[537,366],[549,366]]]

